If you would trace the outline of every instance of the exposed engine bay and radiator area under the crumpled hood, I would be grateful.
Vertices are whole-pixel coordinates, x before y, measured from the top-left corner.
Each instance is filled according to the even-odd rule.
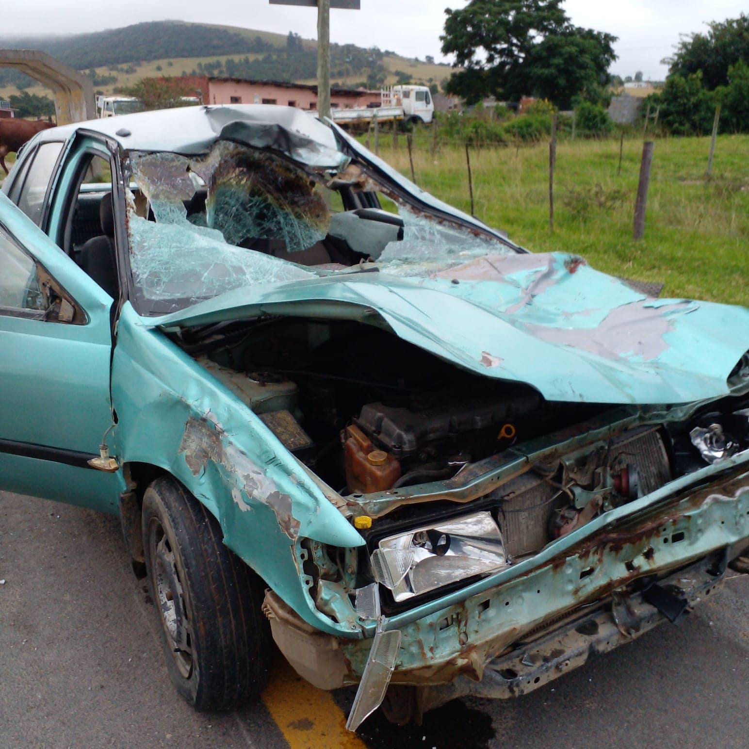
[[[528,386],[472,375],[358,323],[217,324],[180,343],[300,461],[354,497],[451,479],[610,408],[549,403]],[[708,413],[679,434],[633,428],[536,461],[481,506],[491,510],[509,559],[534,554],[598,513],[733,454],[747,441],[748,423],[743,412]],[[379,525],[408,527],[419,512],[394,512]]]

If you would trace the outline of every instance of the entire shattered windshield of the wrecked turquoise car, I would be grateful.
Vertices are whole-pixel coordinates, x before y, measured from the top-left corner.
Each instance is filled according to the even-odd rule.
[[[225,291],[350,273],[363,263],[425,277],[512,252],[491,234],[416,210],[345,161],[345,169],[301,166],[225,140],[199,156],[131,152],[136,309],[166,314]]]

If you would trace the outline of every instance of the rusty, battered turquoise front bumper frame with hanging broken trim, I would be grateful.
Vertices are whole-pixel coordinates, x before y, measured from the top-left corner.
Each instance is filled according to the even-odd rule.
[[[670,616],[669,604],[681,607],[678,616],[719,583],[722,571],[712,557],[733,560],[747,547],[749,453],[744,452],[604,513],[539,554],[464,589],[391,618],[371,613],[363,621],[363,640],[321,634],[291,610],[278,616],[281,603],[273,593],[266,611],[276,642],[302,676],[322,688],[360,682],[349,720],[353,730],[377,709],[389,685],[419,688],[411,691],[422,695],[417,713],[469,691],[502,698],[537,688],[583,664],[589,652],[613,649],[655,626],[664,611]],[[679,583],[697,575],[697,562],[703,583]],[[644,589],[669,585],[682,592],[668,589],[670,595],[658,599]],[[595,623],[596,634],[574,630],[581,622],[590,622],[583,633],[592,633]],[[399,646],[384,649],[390,662],[383,663],[383,648],[373,655],[372,637],[389,632],[398,632]],[[535,651],[521,653],[539,633],[546,639]],[[575,634],[587,639],[575,640]],[[571,639],[551,647],[555,638],[565,637]]]

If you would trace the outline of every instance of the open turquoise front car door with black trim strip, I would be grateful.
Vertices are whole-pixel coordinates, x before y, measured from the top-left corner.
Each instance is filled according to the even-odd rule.
[[[121,472],[88,464],[112,426],[112,298],[4,195],[0,279],[0,489],[117,512]]]

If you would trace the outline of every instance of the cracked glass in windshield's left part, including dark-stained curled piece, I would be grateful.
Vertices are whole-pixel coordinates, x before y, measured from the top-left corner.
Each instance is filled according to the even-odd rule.
[[[130,264],[146,310],[314,275],[273,256],[327,234],[327,204],[303,170],[225,142],[192,159],[133,153],[130,169],[140,192],[127,201]]]

